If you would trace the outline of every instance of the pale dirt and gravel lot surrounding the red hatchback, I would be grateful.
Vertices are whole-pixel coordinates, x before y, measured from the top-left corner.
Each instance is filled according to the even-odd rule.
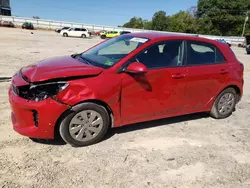
[[[99,39],[0,28],[0,77],[40,59],[81,52]],[[99,144],[35,143],[12,130],[0,82],[0,187],[250,187],[250,56],[245,91],[228,119],[190,115],[114,129]]]

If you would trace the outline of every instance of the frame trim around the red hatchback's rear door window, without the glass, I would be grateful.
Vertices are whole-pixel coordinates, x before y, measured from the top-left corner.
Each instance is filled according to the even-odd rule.
[[[196,64],[188,65],[187,64],[188,63],[188,42],[205,43],[205,44],[208,44],[208,46],[209,45],[213,46],[216,49],[216,51],[219,51],[221,53],[221,55],[224,58],[224,62],[220,62],[220,63],[217,63],[217,62],[216,63],[207,63],[207,64],[197,64],[197,65]],[[223,54],[223,52],[216,45],[214,45],[212,43],[208,43],[208,42],[205,42],[205,41],[199,41],[199,40],[185,40],[185,43],[186,43],[186,45],[185,45],[186,60],[185,60],[185,62],[183,64],[184,67],[200,67],[200,66],[209,66],[209,65],[211,66],[211,65],[220,65],[220,64],[227,63],[227,59],[225,58],[225,55]]]

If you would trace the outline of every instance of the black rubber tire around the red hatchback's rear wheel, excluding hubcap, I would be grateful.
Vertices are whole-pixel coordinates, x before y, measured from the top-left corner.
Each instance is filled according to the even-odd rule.
[[[219,109],[219,102],[227,94],[231,94],[234,100],[232,101],[232,105],[231,105],[230,110],[226,113],[221,113],[220,109]],[[236,93],[235,89],[234,88],[227,88],[227,89],[223,90],[215,99],[212,110],[210,112],[210,116],[215,118],[215,119],[227,118],[235,111],[236,103],[237,103],[237,93]]]

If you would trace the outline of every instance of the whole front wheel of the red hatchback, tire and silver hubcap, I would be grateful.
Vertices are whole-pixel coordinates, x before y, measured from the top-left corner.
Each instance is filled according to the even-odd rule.
[[[62,139],[72,146],[88,146],[99,142],[110,126],[107,110],[95,103],[82,103],[61,122]]]

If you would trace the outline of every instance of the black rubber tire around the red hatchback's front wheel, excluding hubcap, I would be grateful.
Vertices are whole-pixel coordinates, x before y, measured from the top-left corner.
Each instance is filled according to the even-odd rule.
[[[79,141],[73,138],[70,134],[70,122],[75,117],[76,114],[78,114],[79,112],[83,112],[85,110],[91,110],[99,113],[103,120],[103,126],[101,127],[100,132],[97,135],[95,135],[91,140]],[[109,127],[110,127],[110,116],[107,110],[103,106],[88,102],[88,103],[78,104],[72,108],[72,113],[68,114],[66,117],[62,119],[59,127],[59,132],[62,139],[66,143],[74,147],[79,147],[79,146],[92,145],[101,141],[104,138],[105,134],[107,133]]]

